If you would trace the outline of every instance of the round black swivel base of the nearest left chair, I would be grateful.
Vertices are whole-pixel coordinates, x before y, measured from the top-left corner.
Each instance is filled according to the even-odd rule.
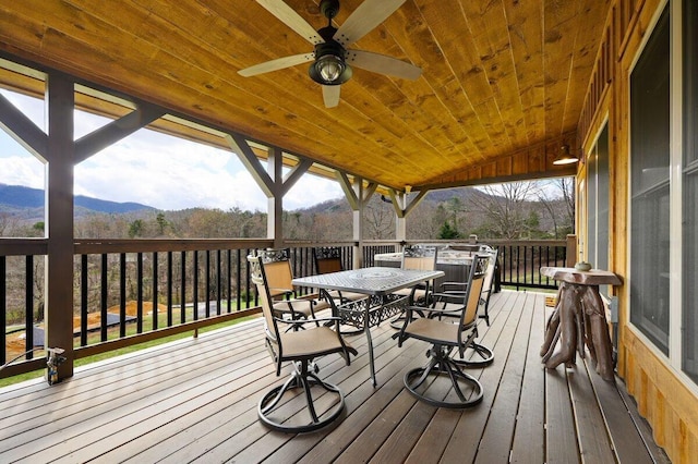
[[[314,431],[328,426],[337,419],[345,410],[344,394],[337,386],[321,380],[313,371],[310,371],[308,361],[297,362],[294,363],[294,366],[296,369],[284,384],[269,390],[262,400],[260,400],[260,404],[257,405],[260,422],[274,430],[289,434]],[[311,388],[313,386],[320,386],[329,393],[337,395],[337,403],[334,404],[332,408],[317,414],[311,393]],[[279,405],[284,394],[298,388],[303,389],[306,410],[310,413],[310,423],[293,425],[292,419],[286,420],[288,417],[284,416],[282,413],[280,414],[282,417],[279,419],[273,418],[272,415],[276,412],[276,406]]]

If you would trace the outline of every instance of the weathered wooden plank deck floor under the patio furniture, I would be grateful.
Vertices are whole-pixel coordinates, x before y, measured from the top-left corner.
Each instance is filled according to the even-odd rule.
[[[0,390],[0,462],[376,462],[631,463],[665,461],[648,440],[622,381],[604,382],[580,361],[546,371],[539,356],[544,295],[492,296],[481,342],[494,363],[470,370],[483,402],[435,408],[405,389],[426,344],[402,349],[394,330],[373,330],[378,388],[369,381],[365,337],[351,366],[321,359],[321,375],[346,394],[337,426],[305,435],[269,431],[256,418],[263,391],[278,383],[261,321],[186,339],[76,370],[62,383]]]

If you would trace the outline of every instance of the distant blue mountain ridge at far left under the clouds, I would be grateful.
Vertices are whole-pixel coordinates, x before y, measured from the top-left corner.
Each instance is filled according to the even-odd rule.
[[[84,195],[75,196],[75,208],[110,215],[156,209],[140,203],[108,202],[106,199],[91,198]],[[24,187],[21,185],[0,184],[0,210],[21,211],[27,209],[44,209],[43,190]]]

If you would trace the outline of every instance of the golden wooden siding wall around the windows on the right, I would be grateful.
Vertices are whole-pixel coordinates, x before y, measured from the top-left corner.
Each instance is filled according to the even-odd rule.
[[[578,137],[585,152],[607,120],[610,139],[611,270],[628,274],[628,173],[629,173],[629,75],[652,21],[664,7],[662,0],[616,0],[609,13],[585,106]],[[579,176],[586,166],[580,163]],[[578,228],[586,223],[580,211]],[[582,239],[586,241],[586,237]],[[629,326],[627,289],[614,289],[619,303],[618,375],[652,427],[654,440],[675,463],[698,456],[698,398],[682,381],[667,361],[648,346]]]

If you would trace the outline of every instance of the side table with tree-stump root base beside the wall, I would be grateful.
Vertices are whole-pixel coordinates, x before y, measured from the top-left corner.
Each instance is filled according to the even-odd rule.
[[[554,369],[565,363],[571,366],[576,351],[585,357],[585,344],[604,380],[613,381],[613,356],[609,326],[599,285],[621,285],[613,272],[591,269],[542,267],[541,274],[561,282],[557,304],[545,327],[545,341],[541,346],[542,362]],[[555,352],[557,342],[561,350]]]

